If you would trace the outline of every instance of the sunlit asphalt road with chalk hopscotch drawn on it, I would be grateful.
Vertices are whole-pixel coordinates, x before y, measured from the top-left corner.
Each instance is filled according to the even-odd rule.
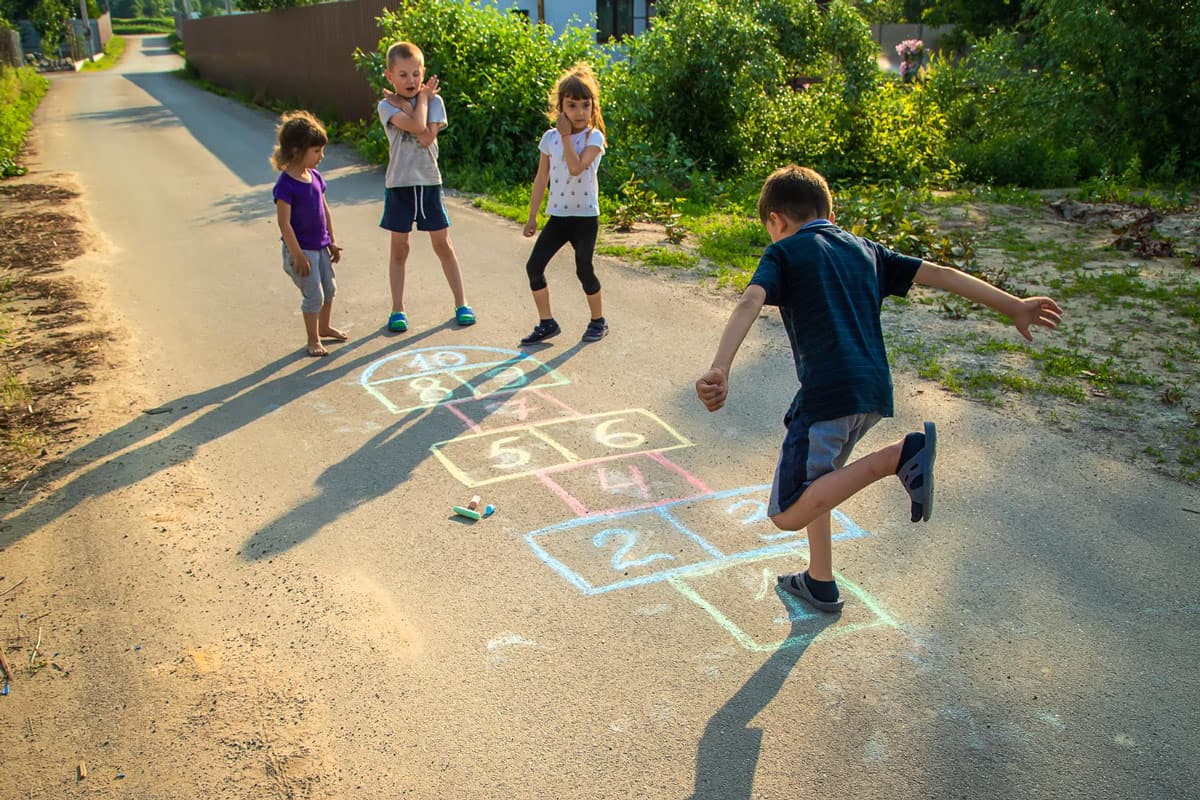
[[[389,333],[383,174],[330,148],[352,338],[307,359],[274,119],[178,66],[131,38],[38,112],[120,368],[0,527],[59,666],[0,698],[0,795],[1200,796],[1195,491],[898,374],[865,445],[936,420],[936,515],[894,481],[847,503],[847,607],[817,618],[775,591],[803,536],[763,521],[794,390],[774,317],[710,415],[732,299],[601,259],[612,332],[581,345],[563,255],[565,332],[523,357],[530,241],[451,199],[480,321],[415,236]],[[476,493],[497,512],[454,517]]]

